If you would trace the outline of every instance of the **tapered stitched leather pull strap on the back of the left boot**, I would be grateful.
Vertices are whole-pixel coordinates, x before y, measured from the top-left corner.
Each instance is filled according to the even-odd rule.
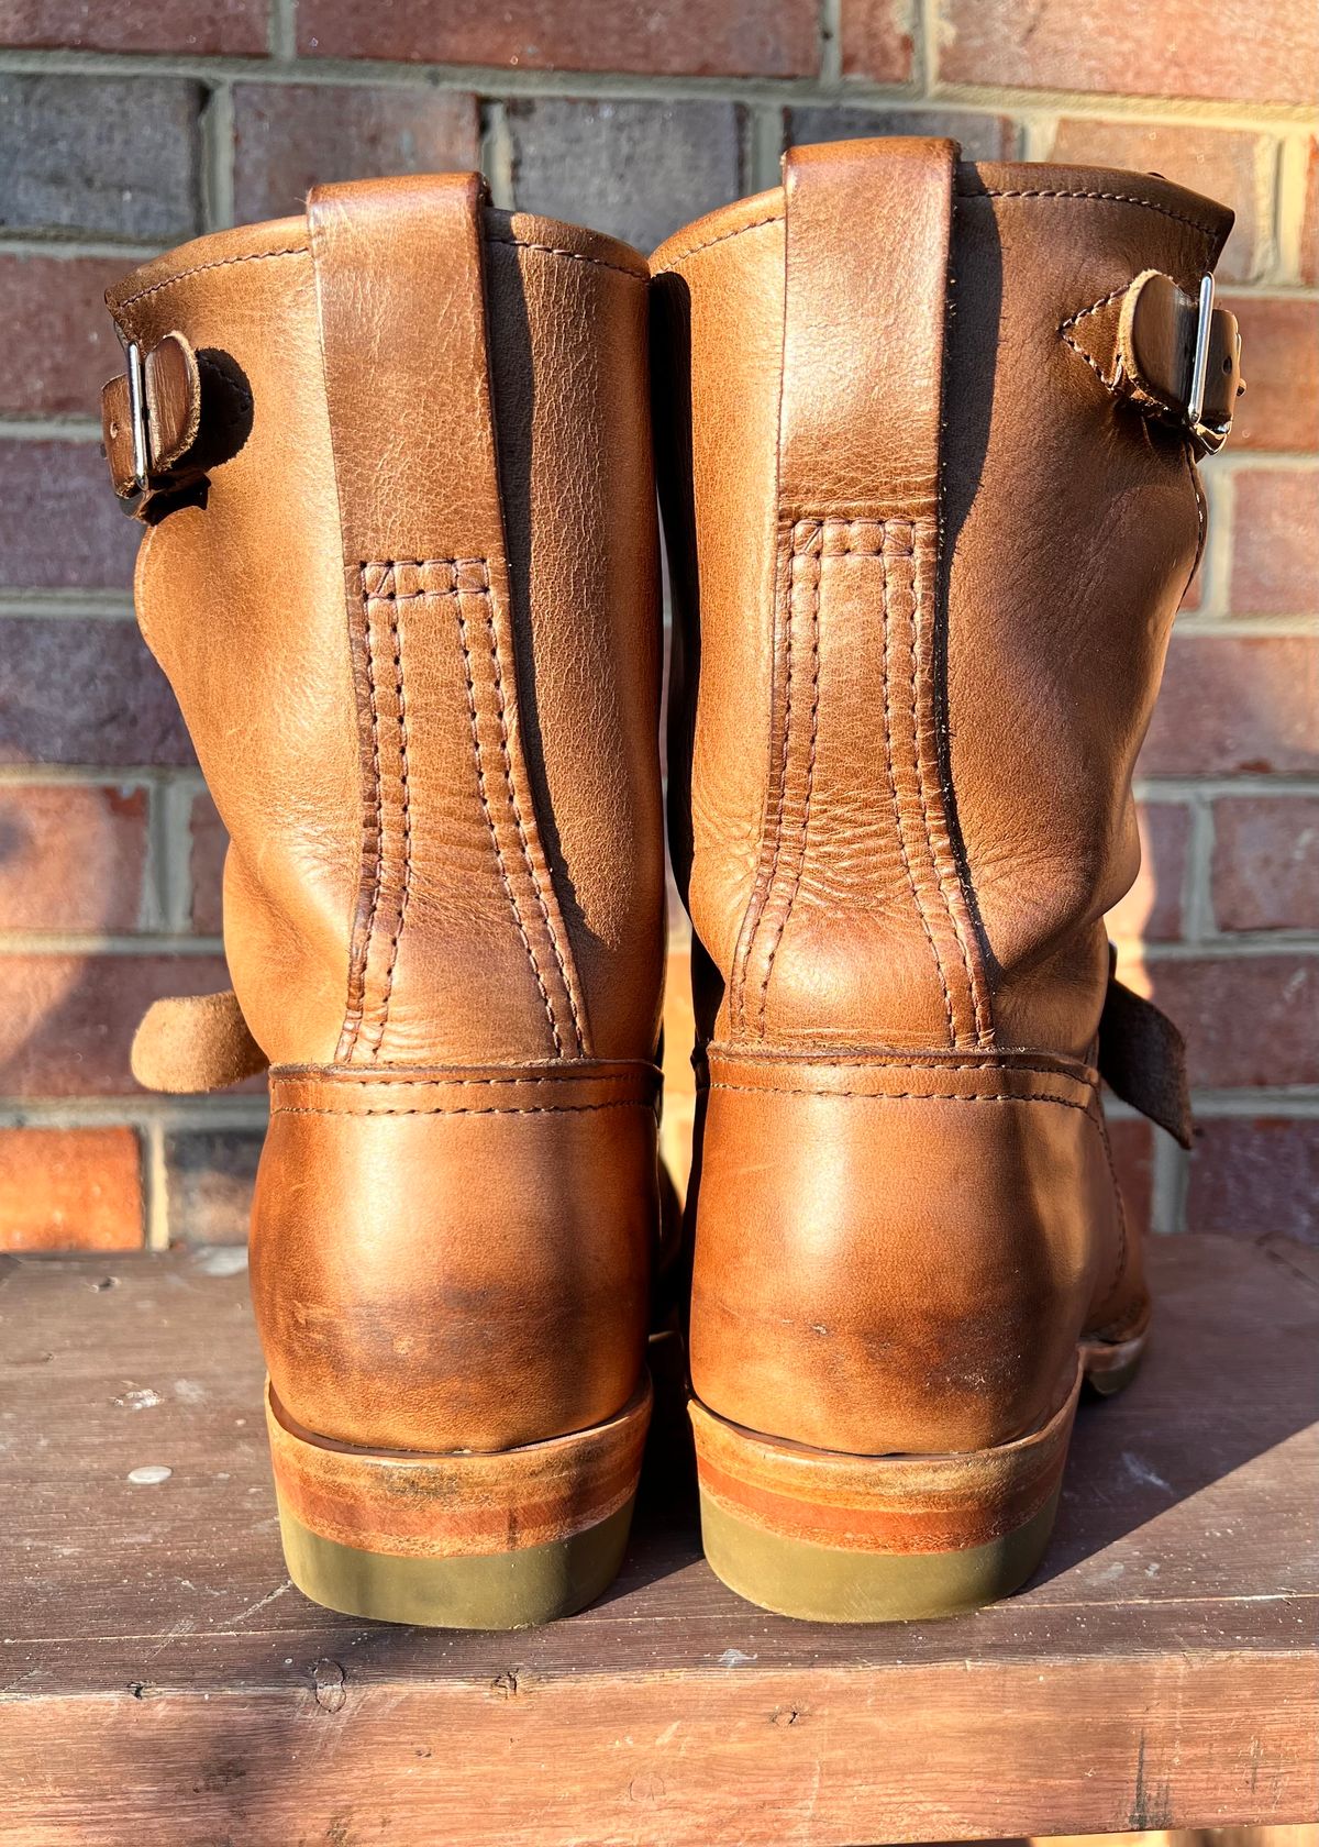
[[[408,994],[434,966],[410,972],[406,925],[440,885],[499,920],[491,962],[508,953],[541,1021],[526,1049],[586,1047],[521,750],[482,214],[477,174],[307,205],[366,789],[340,1062],[423,1053]]]

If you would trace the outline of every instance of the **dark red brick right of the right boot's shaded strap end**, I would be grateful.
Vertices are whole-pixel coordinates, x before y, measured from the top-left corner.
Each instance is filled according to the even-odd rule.
[[[1319,957],[1160,959],[1125,979],[1186,1034],[1192,1084],[1319,1084]]]

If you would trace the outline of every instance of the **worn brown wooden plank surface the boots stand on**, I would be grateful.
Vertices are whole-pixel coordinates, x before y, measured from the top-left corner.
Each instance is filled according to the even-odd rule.
[[[674,1417],[610,1596],[504,1636],[288,1587],[238,1254],[0,1265],[0,1841],[1315,1819],[1319,1280],[1284,1241],[1155,1243],[1151,1361],[1083,1407],[1053,1550],[1009,1603],[881,1629],[741,1603],[700,1559]]]

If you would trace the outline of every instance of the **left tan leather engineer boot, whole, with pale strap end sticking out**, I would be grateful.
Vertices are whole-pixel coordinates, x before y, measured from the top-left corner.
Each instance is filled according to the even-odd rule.
[[[647,266],[475,175],[323,187],[109,297],[137,610],[229,827],[294,1581],[512,1627],[628,1531],[663,957]],[[139,414],[140,412],[140,414]]]

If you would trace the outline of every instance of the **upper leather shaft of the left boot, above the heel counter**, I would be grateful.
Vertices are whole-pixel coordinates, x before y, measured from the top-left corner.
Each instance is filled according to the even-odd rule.
[[[142,508],[137,608],[229,827],[264,1053],[648,1058],[641,259],[475,177],[371,181],[187,246],[111,308],[148,368],[174,331],[200,355],[220,462]]]

